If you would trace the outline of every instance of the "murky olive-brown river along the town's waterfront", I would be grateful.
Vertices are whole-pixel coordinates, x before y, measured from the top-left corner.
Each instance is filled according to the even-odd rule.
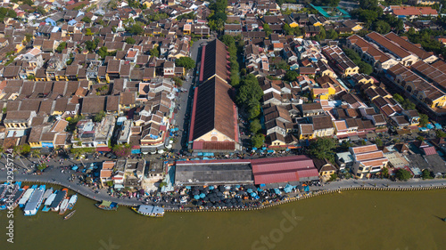
[[[68,221],[0,212],[0,249],[445,249],[446,190],[344,191],[250,212],[103,211],[79,197]],[[438,217],[437,217],[438,216]]]

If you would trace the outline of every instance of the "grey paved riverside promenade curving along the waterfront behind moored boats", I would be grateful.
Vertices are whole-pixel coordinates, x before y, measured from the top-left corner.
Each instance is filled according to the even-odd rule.
[[[61,173],[61,171],[53,170],[50,173],[44,173],[42,175],[24,174],[24,173],[14,173],[14,181],[26,181],[33,183],[48,183],[54,185],[61,185],[70,190],[78,192],[78,194],[84,197],[94,199],[96,201],[109,200],[111,202],[116,202],[120,206],[138,206],[144,205],[142,201],[136,200],[136,198],[116,198],[111,197],[106,190],[99,190],[95,193],[94,190],[88,188],[87,186],[80,185],[78,181],[69,181],[70,173]],[[57,178],[56,178],[57,177]],[[6,181],[6,172],[0,171],[0,181]],[[256,206],[248,208],[225,208],[225,209],[204,209],[198,210],[193,208],[180,209],[177,204],[169,203],[153,203],[149,202],[153,206],[163,206],[166,211],[169,212],[198,212],[198,211],[242,211],[242,210],[258,210],[262,208],[267,208],[270,206],[277,206],[303,198],[311,198],[314,196],[319,196],[327,193],[334,193],[336,191],[343,190],[434,190],[434,189],[446,189],[446,179],[433,179],[433,180],[409,180],[409,181],[390,181],[390,180],[343,180],[325,183],[323,186],[312,186],[310,187],[310,194],[302,195],[300,193],[290,193],[289,198],[285,201],[280,201],[274,204],[268,204],[266,206]]]

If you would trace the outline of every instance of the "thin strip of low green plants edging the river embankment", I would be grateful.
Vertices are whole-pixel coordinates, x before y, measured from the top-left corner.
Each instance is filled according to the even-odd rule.
[[[76,193],[78,193],[79,195],[82,195],[85,198],[90,198],[92,200],[95,201],[102,201],[103,199],[100,198],[95,198],[93,196],[90,196],[88,194],[83,194],[81,192],[78,192],[77,190],[73,190],[71,187],[68,187],[62,183],[57,183],[57,182],[51,182],[51,181],[23,181],[23,183],[46,183],[46,184],[52,184],[52,185],[56,185],[56,186],[61,186],[67,189],[70,189]],[[360,185],[358,187],[345,187],[345,188],[335,188],[334,190],[315,190],[315,191],[310,191],[310,193],[308,194],[304,194],[295,198],[288,198],[285,200],[281,200],[281,201],[277,201],[274,203],[270,203],[268,205],[261,205],[261,206],[255,206],[255,207],[246,207],[246,208],[211,208],[211,209],[207,209],[207,208],[203,208],[203,209],[197,209],[197,208],[186,208],[186,209],[169,209],[169,208],[165,208],[164,211],[165,212],[174,212],[174,213],[181,213],[181,212],[229,212],[229,211],[252,211],[252,210],[260,210],[260,209],[265,209],[268,207],[272,207],[272,206],[279,206],[279,205],[284,205],[290,202],[295,202],[295,201],[299,201],[302,199],[307,199],[307,198],[314,198],[314,197],[318,197],[318,196],[322,196],[322,195],[326,195],[326,194],[333,194],[333,193],[341,193],[343,191],[351,191],[351,190],[376,190],[376,191],[422,191],[422,190],[442,190],[442,189],[446,189],[446,185],[444,183],[440,183],[438,186],[433,186],[431,184],[431,186],[428,187],[365,187],[364,185]],[[123,204],[123,203],[118,203],[119,206],[128,206],[128,207],[133,207],[133,206],[137,206],[137,204],[134,205],[128,205],[128,204]]]

